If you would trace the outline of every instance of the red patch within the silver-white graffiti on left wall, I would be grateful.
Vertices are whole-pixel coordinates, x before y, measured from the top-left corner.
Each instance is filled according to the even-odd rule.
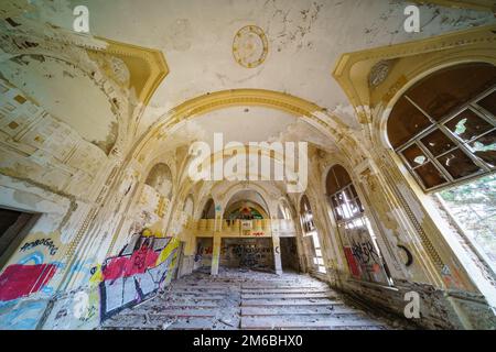
[[[154,267],[159,253],[142,246],[130,256],[111,258],[103,271],[104,279],[116,279],[143,274],[148,268]]]

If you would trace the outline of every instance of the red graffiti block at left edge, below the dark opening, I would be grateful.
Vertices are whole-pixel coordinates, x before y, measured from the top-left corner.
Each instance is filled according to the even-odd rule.
[[[57,267],[55,264],[9,265],[0,275],[0,300],[11,300],[39,292]]]

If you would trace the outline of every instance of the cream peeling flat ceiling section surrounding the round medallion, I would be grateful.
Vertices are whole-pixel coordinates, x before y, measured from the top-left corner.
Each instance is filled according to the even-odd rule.
[[[263,88],[312,101],[357,122],[344,92],[331,77],[346,52],[402,43],[496,21],[489,12],[420,6],[421,32],[403,30],[405,1],[164,1],[72,0],[90,11],[91,34],[161,50],[170,67],[143,123],[183,101],[234,88]],[[68,25],[58,19],[60,25]],[[233,54],[236,33],[257,25],[267,57],[255,68]]]

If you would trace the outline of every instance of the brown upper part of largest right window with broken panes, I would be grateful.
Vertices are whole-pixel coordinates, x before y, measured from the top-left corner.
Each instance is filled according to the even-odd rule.
[[[496,67],[468,64],[429,76],[396,103],[388,120],[395,151],[432,191],[496,167]]]

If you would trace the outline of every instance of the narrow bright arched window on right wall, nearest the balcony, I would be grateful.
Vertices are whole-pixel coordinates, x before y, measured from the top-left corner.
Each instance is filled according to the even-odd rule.
[[[315,222],[313,221],[312,208],[310,207],[306,195],[303,195],[300,200],[300,220],[304,232],[304,239],[306,239],[306,245],[312,249],[314,254],[313,264],[317,272],[325,273],[321,242],[319,241],[319,233],[315,228]]]

